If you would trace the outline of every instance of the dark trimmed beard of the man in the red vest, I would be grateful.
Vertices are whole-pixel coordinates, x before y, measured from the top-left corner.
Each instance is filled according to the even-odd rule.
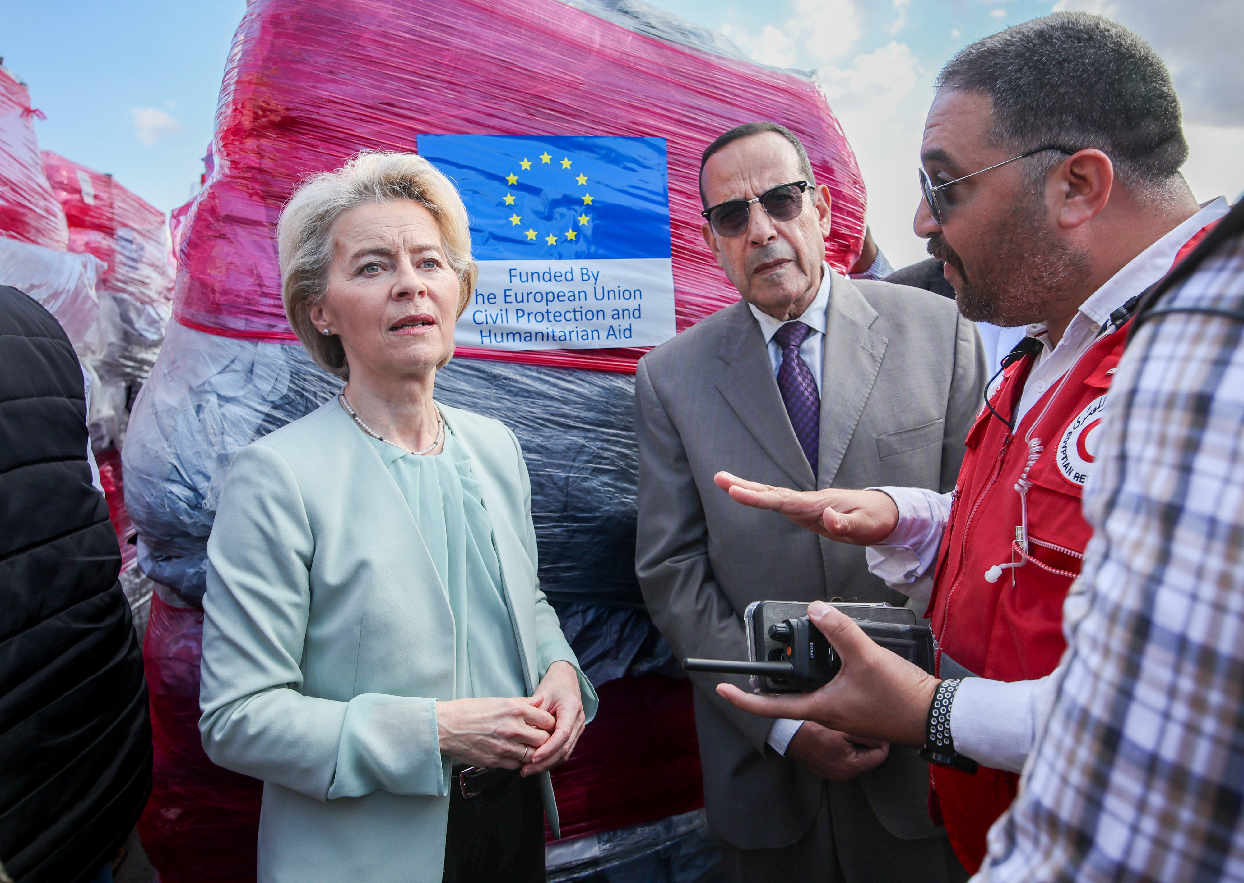
[[[1091,271],[1088,252],[1051,235],[1045,215],[1040,198],[1015,205],[984,238],[972,272],[942,234],[929,238],[928,252],[959,271],[955,303],[964,318],[1033,325],[1077,298]]]

